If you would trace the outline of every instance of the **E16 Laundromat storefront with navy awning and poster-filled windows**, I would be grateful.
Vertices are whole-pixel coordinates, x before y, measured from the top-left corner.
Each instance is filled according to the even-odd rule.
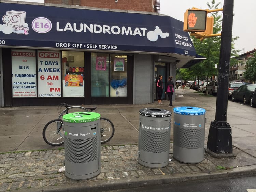
[[[143,62],[136,55],[167,55],[175,64],[196,57],[183,23],[169,16],[0,5],[4,106],[133,104],[134,68]]]

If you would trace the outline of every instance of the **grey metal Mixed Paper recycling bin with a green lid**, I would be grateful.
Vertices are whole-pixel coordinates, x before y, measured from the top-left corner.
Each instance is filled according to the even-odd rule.
[[[100,114],[75,112],[63,116],[65,175],[74,180],[95,177],[101,170]]]

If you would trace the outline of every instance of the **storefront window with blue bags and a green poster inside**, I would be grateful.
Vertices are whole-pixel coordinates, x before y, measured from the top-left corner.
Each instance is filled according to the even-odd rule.
[[[110,54],[110,96],[127,96],[127,55]]]

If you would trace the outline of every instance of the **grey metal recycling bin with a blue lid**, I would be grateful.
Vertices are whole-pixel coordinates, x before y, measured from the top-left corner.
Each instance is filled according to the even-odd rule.
[[[200,163],[204,158],[205,109],[173,109],[173,157],[184,163]]]

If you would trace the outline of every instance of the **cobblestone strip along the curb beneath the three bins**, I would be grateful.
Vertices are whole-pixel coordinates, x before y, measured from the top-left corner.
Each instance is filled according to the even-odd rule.
[[[174,160],[172,144],[172,161],[164,168],[144,167],[138,163],[137,158],[137,145],[101,147],[101,173],[89,180],[76,181],[58,171],[63,167],[64,149],[4,153],[0,154],[0,191],[216,170],[216,165],[206,158],[198,164],[185,164]]]

